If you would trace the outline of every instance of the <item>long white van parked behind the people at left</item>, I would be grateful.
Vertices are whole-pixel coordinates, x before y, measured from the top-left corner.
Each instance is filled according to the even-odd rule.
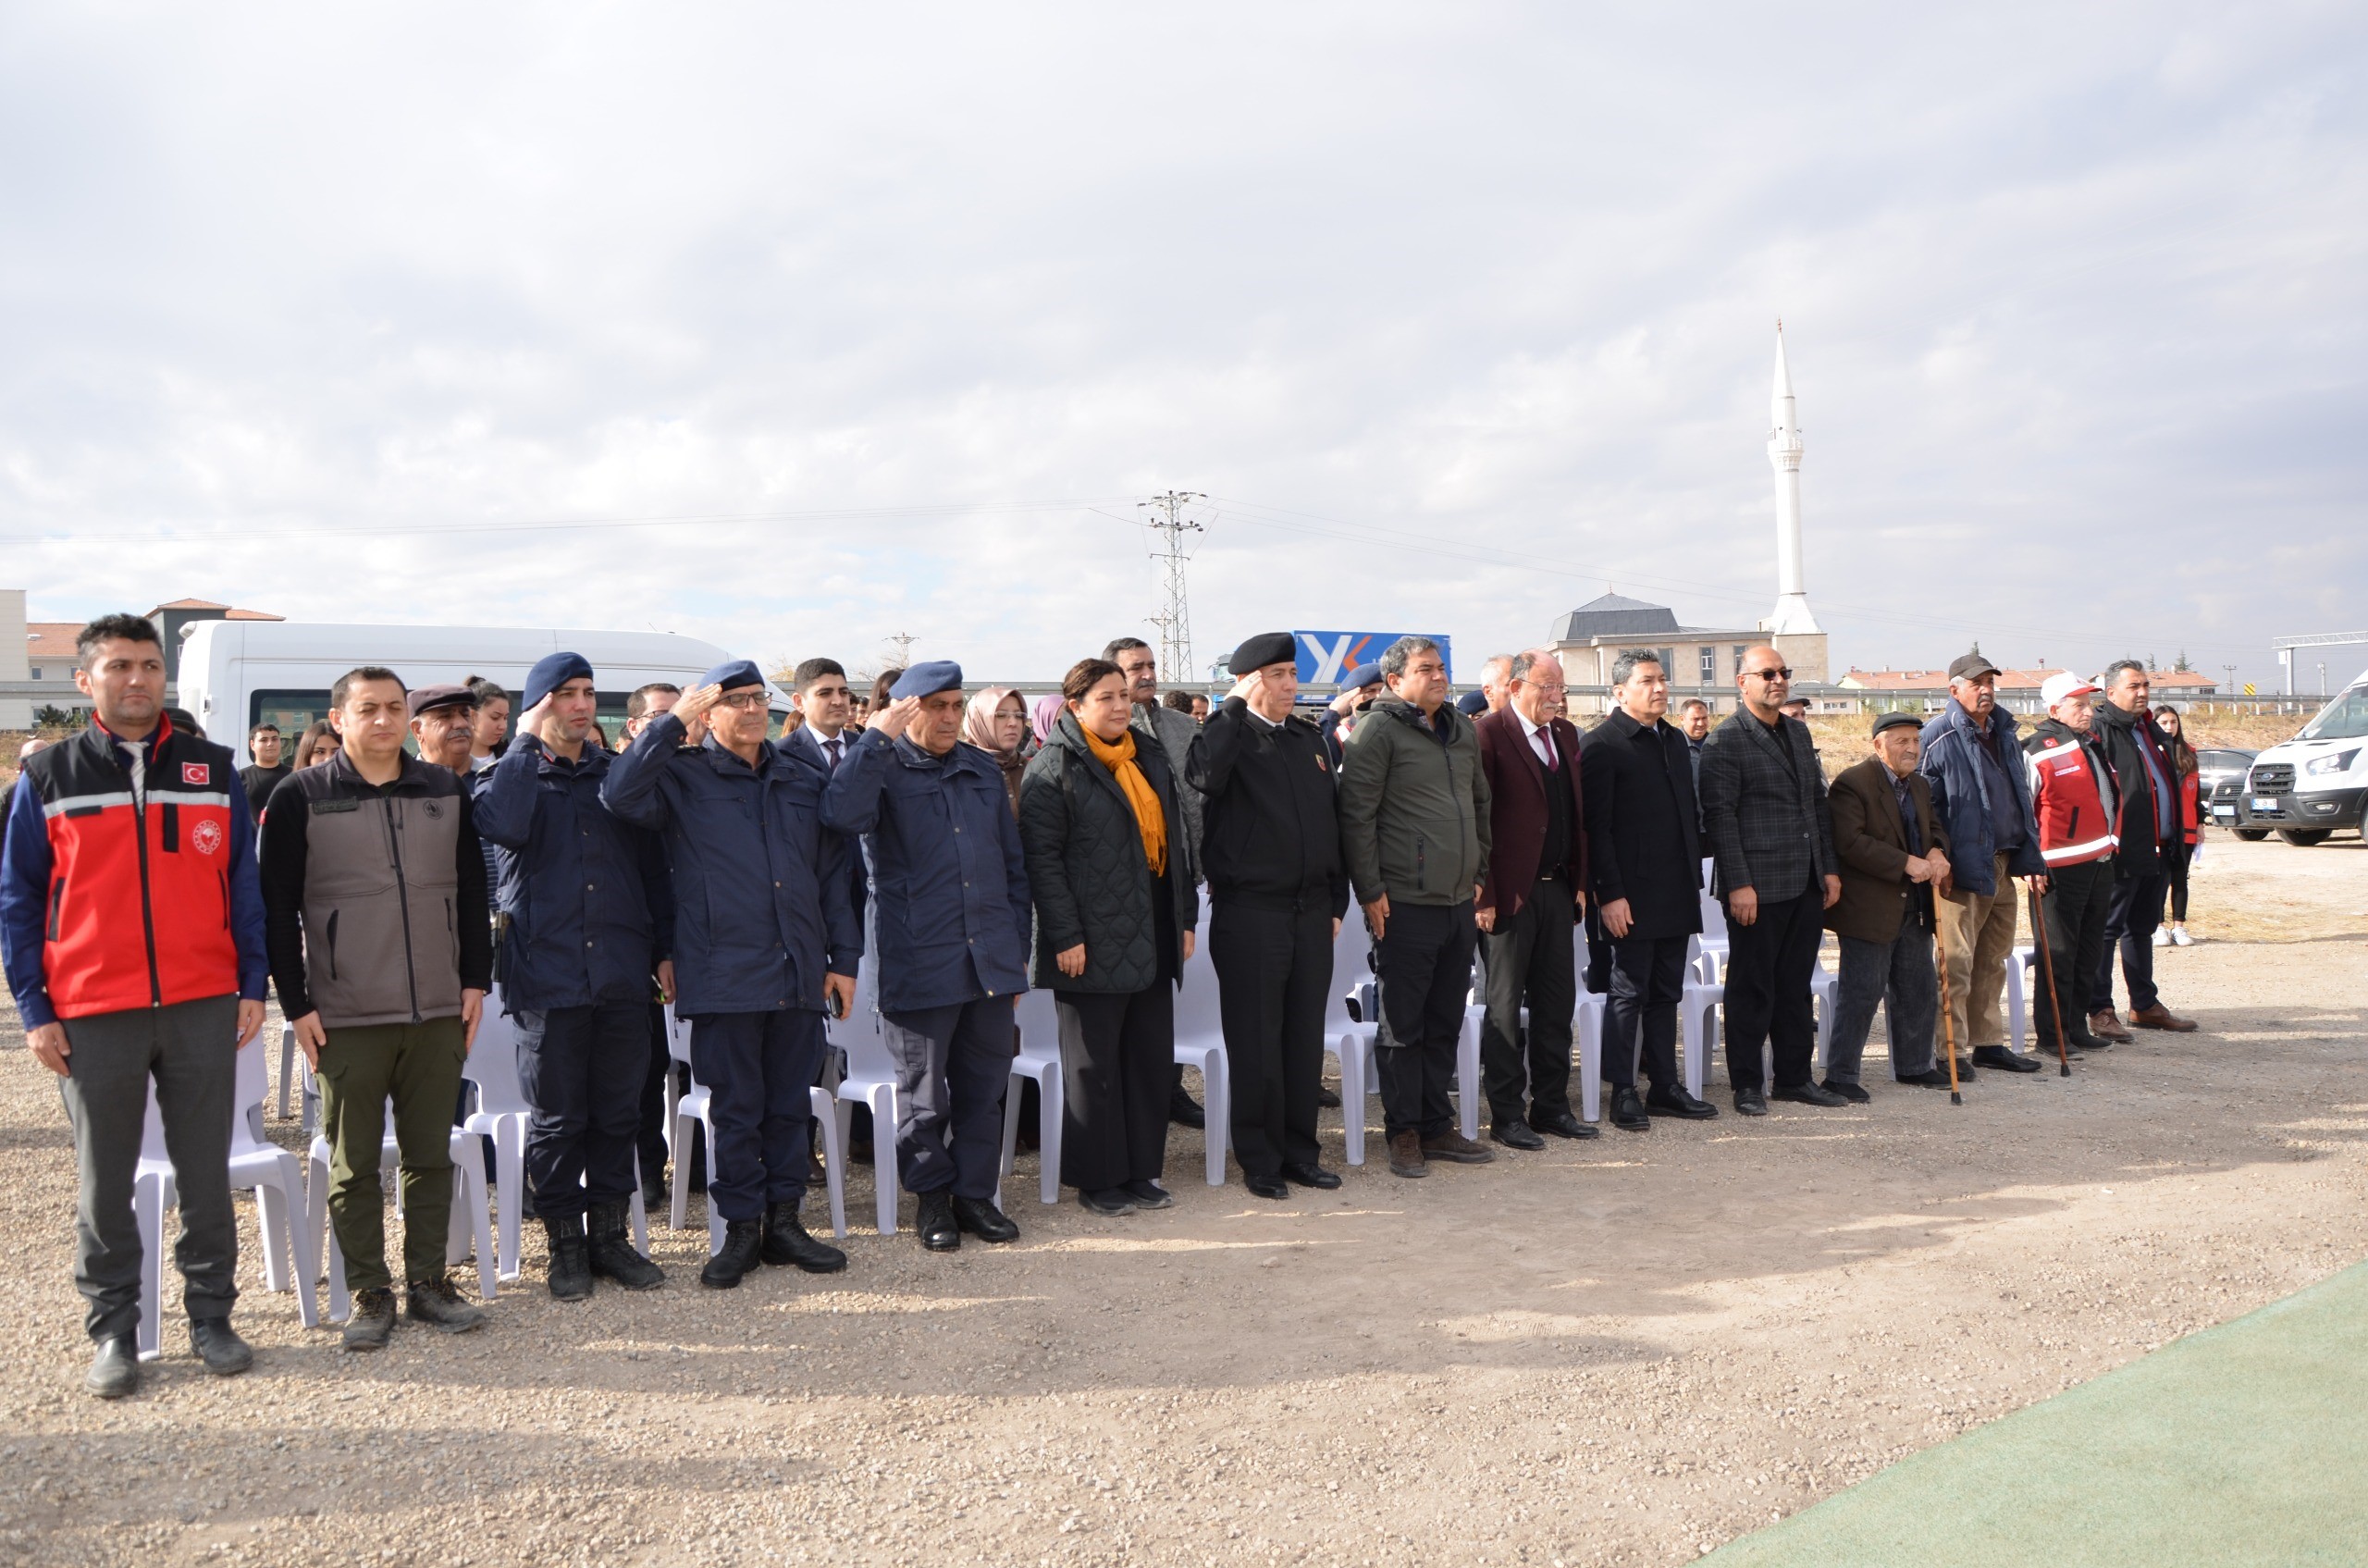
[[[732,658],[713,642],[673,632],[566,632],[483,625],[305,625],[301,621],[197,621],[180,647],[180,706],[244,767],[256,725],[279,725],[296,741],[329,713],[329,685],[365,663],[386,666],[405,687],[483,675],[516,696],[545,654],[568,649],[592,661],[599,725],[609,744],[625,734],[625,699],[665,680],[689,689]],[[772,689],[772,708],[789,699]],[[516,711],[511,711],[516,720]]]

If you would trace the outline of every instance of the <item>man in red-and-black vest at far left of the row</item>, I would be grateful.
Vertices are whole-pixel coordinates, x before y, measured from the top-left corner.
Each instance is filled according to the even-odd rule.
[[[180,1191],[189,1343],[208,1371],[253,1364],[230,1326],[230,1125],[268,964],[246,791],[227,746],[166,718],[156,628],[99,616],[76,656],[92,722],[33,756],[9,801],[0,947],[26,1045],[62,1078],[73,1123],[73,1284],[99,1348],[83,1386],[116,1400],[140,1386],[133,1177],[152,1078]]]

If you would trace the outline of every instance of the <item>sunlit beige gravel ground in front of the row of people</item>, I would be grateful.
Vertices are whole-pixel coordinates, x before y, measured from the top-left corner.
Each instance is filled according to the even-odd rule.
[[[1963,1108],[1883,1082],[1291,1203],[1179,1130],[1167,1213],[1040,1208],[1023,1156],[1018,1246],[857,1229],[713,1293],[661,1229],[663,1291],[583,1305],[530,1236],[483,1334],[377,1357],[263,1291],[246,1208],[256,1369],[206,1379],[168,1300],[121,1405],[78,1393],[64,1116],[0,1018],[0,1563],[1686,1561],[2368,1251],[2368,848],[2207,867],[2198,931],[2271,940],[2160,955],[2205,1033]]]

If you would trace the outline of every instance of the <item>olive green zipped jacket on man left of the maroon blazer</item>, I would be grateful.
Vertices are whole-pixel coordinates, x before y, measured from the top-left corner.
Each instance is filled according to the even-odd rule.
[[[1487,874],[1487,775],[1480,734],[1449,706],[1444,734],[1385,696],[1340,756],[1340,850],[1357,902],[1468,905]]]

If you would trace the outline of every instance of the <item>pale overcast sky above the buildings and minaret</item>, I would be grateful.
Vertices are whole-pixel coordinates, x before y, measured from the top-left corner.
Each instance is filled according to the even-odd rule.
[[[1838,668],[2368,625],[2361,7],[1141,12],[0,9],[0,585],[1471,677],[1769,613],[1783,315]]]

